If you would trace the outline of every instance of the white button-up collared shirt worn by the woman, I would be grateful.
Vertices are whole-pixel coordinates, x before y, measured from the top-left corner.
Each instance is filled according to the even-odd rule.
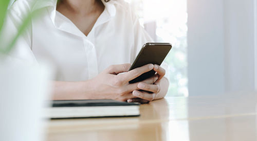
[[[12,5],[4,38],[16,32],[28,11],[40,10],[40,18],[31,21],[31,26],[16,43],[12,56],[50,61],[56,66],[56,80],[87,80],[109,65],[133,63],[142,45],[152,42],[133,10],[122,0],[103,2],[105,9],[88,36],[56,11],[57,0],[33,2],[17,0]]]

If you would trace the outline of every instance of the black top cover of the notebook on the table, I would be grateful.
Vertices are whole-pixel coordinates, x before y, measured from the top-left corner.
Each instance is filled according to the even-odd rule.
[[[120,105],[139,105],[139,103],[127,103],[112,99],[94,100],[53,100],[52,107],[94,107],[94,106],[120,106]]]

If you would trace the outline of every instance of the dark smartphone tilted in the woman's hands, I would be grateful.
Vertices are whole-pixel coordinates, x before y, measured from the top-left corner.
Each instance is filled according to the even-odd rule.
[[[130,70],[141,67],[146,64],[161,65],[166,58],[172,45],[170,43],[145,43],[137,55]],[[154,76],[156,72],[151,70],[130,81],[130,83],[140,82]]]

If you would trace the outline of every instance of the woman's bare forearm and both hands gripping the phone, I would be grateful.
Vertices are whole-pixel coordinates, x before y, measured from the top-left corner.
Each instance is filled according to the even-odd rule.
[[[128,71],[130,66],[130,64],[109,66],[97,77],[86,81],[55,81],[52,99],[116,99],[119,101],[146,103],[153,99],[164,97],[167,93],[169,82],[167,79],[161,79],[165,74],[163,68],[159,66],[159,68],[154,68],[153,64],[148,64]],[[141,82],[128,83],[152,69],[157,72],[155,76]],[[141,84],[145,86],[141,87]],[[137,90],[144,90],[145,92]],[[147,93],[146,91],[152,93]],[[158,91],[160,92],[158,93]]]

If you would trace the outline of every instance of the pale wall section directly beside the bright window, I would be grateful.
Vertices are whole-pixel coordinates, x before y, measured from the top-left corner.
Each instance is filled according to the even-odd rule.
[[[189,96],[224,92],[223,1],[188,0]]]

